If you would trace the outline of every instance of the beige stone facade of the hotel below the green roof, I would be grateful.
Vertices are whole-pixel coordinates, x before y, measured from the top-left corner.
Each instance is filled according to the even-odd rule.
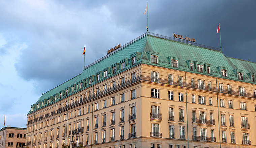
[[[89,98],[105,85],[112,90]],[[28,114],[26,145],[70,145],[75,130],[86,148],[252,148],[256,101],[239,89],[253,94],[256,86],[139,64]]]

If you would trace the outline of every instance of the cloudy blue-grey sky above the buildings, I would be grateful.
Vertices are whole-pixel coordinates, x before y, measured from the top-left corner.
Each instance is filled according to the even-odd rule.
[[[0,1],[0,126],[26,127],[42,93],[147,32],[195,38],[256,62],[255,0]],[[216,33],[220,23],[220,33]],[[2,128],[0,127],[0,128]]]

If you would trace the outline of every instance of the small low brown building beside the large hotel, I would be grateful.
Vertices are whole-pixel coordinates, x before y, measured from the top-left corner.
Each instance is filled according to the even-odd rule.
[[[18,127],[2,128],[0,130],[0,148],[21,148],[26,142],[26,129]]]

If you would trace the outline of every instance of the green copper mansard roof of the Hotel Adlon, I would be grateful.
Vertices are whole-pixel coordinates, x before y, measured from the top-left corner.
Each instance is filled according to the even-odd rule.
[[[158,64],[151,63],[150,54],[158,56]],[[221,77],[220,71],[219,71],[220,69],[218,69],[217,67],[222,67],[227,70],[227,77],[226,77],[227,79],[243,81],[248,83],[251,83],[251,80],[247,73],[252,73],[254,75],[256,73],[256,63],[254,62],[226,57],[222,52],[217,50],[212,50],[212,49],[207,49],[207,48],[203,48],[195,45],[181,43],[178,41],[173,41],[171,38],[166,38],[160,35],[156,36],[155,34],[152,34],[152,33],[149,33],[149,34],[146,33],[140,36],[139,38],[131,41],[130,43],[120,47],[114,52],[108,54],[107,56],[99,59],[98,61],[90,64],[78,76],[44,93],[39,98],[36,104],[67,89],[68,87],[71,88],[74,85],[76,86],[76,84],[85,82],[86,79],[88,79],[89,77],[96,76],[96,73],[103,72],[107,68],[112,68],[113,65],[117,63],[119,64],[121,61],[124,61],[125,59],[127,60],[127,62],[130,61],[129,63],[126,63],[126,68],[125,68],[125,69],[129,69],[130,67],[133,67],[133,65],[131,65],[132,56],[137,56],[136,57],[137,64],[144,63],[144,64],[156,65],[159,67],[164,67],[169,69],[177,69],[181,71],[187,71],[187,72],[198,73],[203,75],[210,75],[215,77]],[[179,61],[178,68],[171,67],[171,64],[170,64],[171,59],[178,59]],[[197,72],[197,70],[191,71],[186,62],[187,60],[190,60],[194,64],[195,69],[196,69],[197,63],[203,66],[204,64],[206,64],[207,66],[210,66],[211,73],[207,74],[205,72],[205,69],[203,73]],[[121,64],[120,64],[120,67],[121,67]],[[117,70],[116,74],[118,74],[121,71],[120,69]],[[244,80],[237,79],[236,73],[234,72],[235,69],[237,69],[237,71],[244,71]],[[115,74],[111,74],[110,72],[108,77],[111,77],[113,75]],[[107,78],[102,77],[100,81]],[[94,80],[91,85],[95,83],[98,83],[98,82]],[[84,86],[84,83],[83,83],[83,86]],[[86,85],[86,87],[89,87],[89,86]],[[82,89],[86,87],[83,87]],[[74,92],[80,91],[82,89],[75,90]],[[67,96],[71,94],[73,93],[69,91]],[[63,98],[67,96],[63,96]],[[56,99],[56,101],[58,100],[59,98]],[[35,105],[32,105],[31,107],[34,107],[34,111],[36,110]],[[29,111],[29,113],[31,113],[31,111]]]

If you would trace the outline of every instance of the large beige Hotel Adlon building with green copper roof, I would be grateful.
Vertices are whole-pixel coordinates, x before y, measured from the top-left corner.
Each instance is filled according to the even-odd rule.
[[[28,147],[255,147],[256,63],[153,33],[111,51],[31,105]]]

